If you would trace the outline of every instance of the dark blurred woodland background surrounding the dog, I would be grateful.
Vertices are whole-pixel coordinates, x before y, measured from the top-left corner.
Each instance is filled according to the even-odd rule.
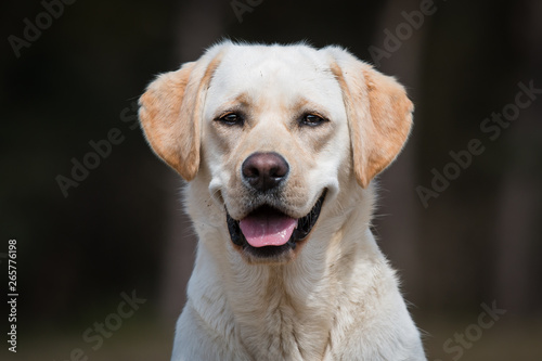
[[[169,359],[196,240],[134,102],[230,38],[340,44],[405,85],[415,126],[379,177],[374,232],[428,359],[542,360],[542,2],[1,9],[0,289],[16,240],[20,296],[16,353],[2,302],[0,359]]]

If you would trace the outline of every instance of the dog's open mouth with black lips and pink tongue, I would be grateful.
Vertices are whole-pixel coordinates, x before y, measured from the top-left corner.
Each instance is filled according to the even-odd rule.
[[[256,208],[242,220],[233,219],[227,209],[232,243],[256,258],[278,257],[295,249],[297,243],[306,240],[317,223],[325,194],[324,190],[309,214],[299,219],[268,205]]]

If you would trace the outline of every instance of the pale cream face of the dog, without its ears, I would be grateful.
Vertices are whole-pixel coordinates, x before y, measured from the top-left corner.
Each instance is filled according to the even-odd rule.
[[[306,48],[278,50],[223,54],[203,117],[209,192],[225,206],[234,245],[251,259],[299,252],[350,149],[325,59]]]

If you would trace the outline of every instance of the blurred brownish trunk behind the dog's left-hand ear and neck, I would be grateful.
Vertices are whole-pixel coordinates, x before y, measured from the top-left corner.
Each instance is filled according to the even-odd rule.
[[[220,0],[191,0],[182,7],[175,27],[178,47],[173,51],[180,63],[197,60],[206,48],[220,38],[227,18],[223,15],[225,7],[229,2]],[[177,190],[181,179],[171,173],[166,184]],[[186,283],[194,266],[197,237],[190,218],[182,210],[180,195],[171,197],[167,208],[170,218],[164,255],[162,310],[169,322],[177,319],[186,301]]]

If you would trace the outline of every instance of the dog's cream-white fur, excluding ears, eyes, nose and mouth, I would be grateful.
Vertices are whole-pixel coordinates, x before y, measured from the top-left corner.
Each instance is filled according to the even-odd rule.
[[[353,175],[345,94],[330,70],[337,52],[346,53],[225,42],[204,55],[207,63],[218,53],[221,60],[206,89],[199,170],[185,188],[199,243],[172,361],[426,360],[396,274],[369,229],[375,191]],[[220,133],[214,119],[240,94],[248,94],[253,123],[234,136]],[[292,126],[300,98],[332,120],[325,142]],[[299,254],[272,265],[247,262],[225,224],[224,205],[234,218],[246,215],[249,197],[235,177],[243,159],[260,151],[292,165],[285,191],[292,215],[307,214],[328,191]]]

